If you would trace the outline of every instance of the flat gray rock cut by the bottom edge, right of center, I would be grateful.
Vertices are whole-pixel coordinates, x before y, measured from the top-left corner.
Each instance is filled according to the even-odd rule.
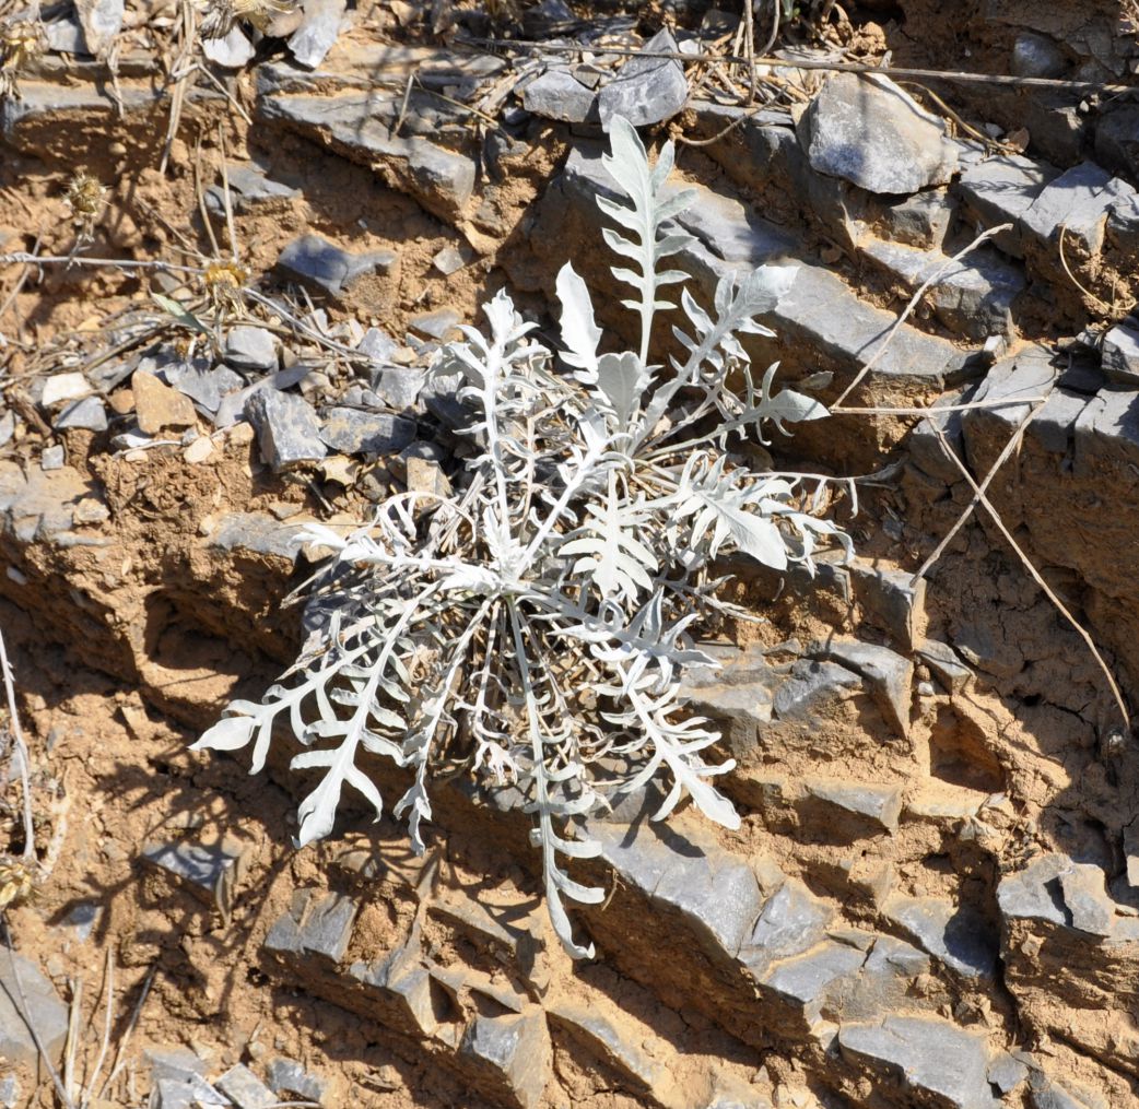
[[[899,1083],[913,1103],[999,1109],[989,1085],[985,1037],[948,1020],[891,1016],[875,1024],[844,1024],[838,1044],[843,1055],[863,1062],[872,1075]]]

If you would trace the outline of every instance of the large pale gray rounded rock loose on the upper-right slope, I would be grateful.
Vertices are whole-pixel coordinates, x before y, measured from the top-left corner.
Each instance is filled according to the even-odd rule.
[[[831,76],[803,113],[800,142],[816,172],[870,192],[917,192],[957,170],[944,123],[885,77]]]

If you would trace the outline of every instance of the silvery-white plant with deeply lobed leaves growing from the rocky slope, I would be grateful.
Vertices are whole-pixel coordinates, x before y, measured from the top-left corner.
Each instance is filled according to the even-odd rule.
[[[639,350],[599,353],[590,294],[570,264],[557,278],[557,353],[499,293],[486,334],[464,328],[432,368],[457,383],[468,413],[461,492],[393,496],[349,537],[309,527],[302,541],[335,551],[311,586],[320,630],[260,705],[233,701],[195,745],[252,742],[255,773],[287,721],[306,748],[292,767],[320,772],[300,805],[300,845],[331,831],[345,784],[380,813],[364,754],[410,772],[394,813],[407,814],[417,849],[433,775],[514,783],[533,814],[555,930],[575,956],[592,948],[574,939],[563,898],[603,897],[563,862],[599,851],[584,818],[661,779],[654,819],[687,795],[739,827],[713,784],[734,764],[705,761],[719,736],[679,699],[685,667],[712,664],[691,633],[730,608],[711,561],[741,551],[776,570],[811,568],[819,541],[847,543],[804,510],[794,475],[754,473],[727,450],[732,436],[762,442],[768,426],[826,414],[773,394],[773,368],[755,387],[739,340],[772,334],[755,317],[794,271],[724,278],[710,310],[681,287],[679,353],[652,363],[656,314],[677,307],[667,289],[686,279],[662,268],[690,243],[672,217],[693,194],[665,190],[671,143],[650,167],[628,122],[614,120],[611,138],[604,164],[623,200],[597,203],[617,225],[605,241],[629,262],[613,273],[633,290],[622,303],[639,317]]]

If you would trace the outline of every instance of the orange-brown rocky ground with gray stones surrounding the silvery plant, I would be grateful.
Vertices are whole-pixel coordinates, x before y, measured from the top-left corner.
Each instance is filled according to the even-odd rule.
[[[0,627],[41,865],[0,1104],[1137,1102],[1139,13],[801,7],[755,71],[697,0],[9,13]],[[797,268],[748,352],[836,409],[771,450],[858,478],[857,558],[726,567],[767,623],[687,697],[743,827],[595,821],[575,964],[509,790],[442,783],[424,857],[363,813],[296,852],[282,765],[188,746],[295,659],[304,523],[462,480],[425,372],[456,325],[507,288],[552,334],[567,257],[616,299],[614,114],[678,143],[696,289]]]

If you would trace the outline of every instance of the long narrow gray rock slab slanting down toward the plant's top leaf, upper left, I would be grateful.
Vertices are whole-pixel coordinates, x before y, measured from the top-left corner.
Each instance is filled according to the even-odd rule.
[[[453,223],[475,187],[475,163],[421,138],[391,138],[372,93],[338,96],[262,95],[261,116],[304,135],[327,140],[354,162],[380,172],[388,184],[411,195],[428,212]]]

